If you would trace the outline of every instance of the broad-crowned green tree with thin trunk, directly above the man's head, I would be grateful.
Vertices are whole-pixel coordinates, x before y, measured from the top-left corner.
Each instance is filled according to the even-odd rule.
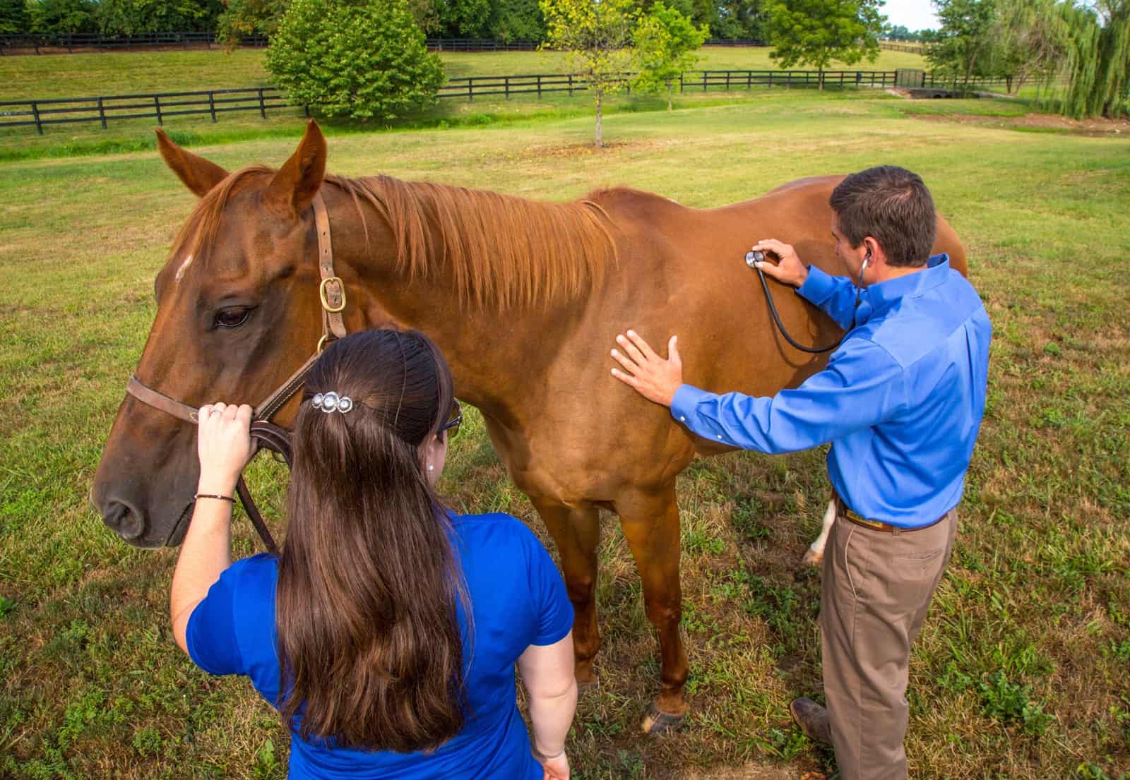
[[[855,64],[873,62],[879,55],[879,35],[886,17],[879,15],[883,0],[773,0],[766,10],[770,21],[770,56],[782,68],[814,65],[824,71],[833,60]]]

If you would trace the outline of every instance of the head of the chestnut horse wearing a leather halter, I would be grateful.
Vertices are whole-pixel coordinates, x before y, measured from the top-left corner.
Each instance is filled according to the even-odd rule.
[[[325,173],[311,122],[278,170],[229,174],[157,131],[168,167],[200,201],[157,274],[157,316],[134,375],[189,406],[257,404],[314,351],[321,334],[318,236],[310,208]],[[293,420],[292,398],[275,418]],[[90,500],[140,547],[175,545],[192,512],[195,427],[127,395]]]

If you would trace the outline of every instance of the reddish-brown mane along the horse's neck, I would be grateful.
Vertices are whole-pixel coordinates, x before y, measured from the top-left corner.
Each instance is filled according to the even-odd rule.
[[[392,176],[325,181],[354,199],[366,238],[360,202],[384,218],[409,280],[445,270],[460,301],[479,308],[574,299],[617,261],[611,219],[592,200],[549,203]]]

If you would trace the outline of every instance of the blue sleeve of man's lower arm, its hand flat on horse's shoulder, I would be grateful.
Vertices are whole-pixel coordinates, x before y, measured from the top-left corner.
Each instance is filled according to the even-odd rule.
[[[705,439],[763,453],[793,453],[889,419],[906,403],[905,385],[902,367],[885,349],[857,338],[796,389],[754,397],[683,385],[675,393],[671,414]]]

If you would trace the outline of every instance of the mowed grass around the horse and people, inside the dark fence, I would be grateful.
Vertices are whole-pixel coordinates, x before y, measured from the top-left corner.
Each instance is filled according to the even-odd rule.
[[[1130,141],[923,121],[904,105],[774,91],[619,113],[605,150],[586,146],[589,117],[354,133],[330,139],[329,167],[550,200],[624,184],[692,207],[883,163],[920,172],[966,244],[996,335],[957,545],[911,666],[912,777],[1124,777]],[[193,151],[235,169],[281,164],[293,146]],[[172,641],[176,552],[127,546],[87,503],[154,317],[154,275],[193,203],[154,152],[0,164],[2,777],[285,774],[287,737],[247,682],[208,677]],[[799,562],[827,500],[823,455],[734,454],[680,477],[693,709],[662,738],[637,731],[657,646],[606,518],[601,685],[583,694],[568,743],[577,778],[829,769],[786,712],[820,691],[819,576]],[[284,475],[253,471],[278,507]],[[513,512],[545,537],[477,417],[442,488],[461,509]],[[236,553],[254,551],[247,524],[236,531]]]

